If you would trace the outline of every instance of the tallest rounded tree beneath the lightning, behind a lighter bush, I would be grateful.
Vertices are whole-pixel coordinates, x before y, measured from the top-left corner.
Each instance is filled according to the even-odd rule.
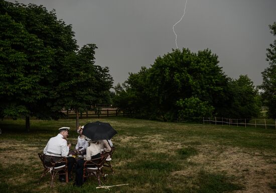
[[[150,80],[161,116],[166,119],[168,112],[175,116],[176,102],[190,97],[208,102],[215,108],[214,113],[225,113],[228,79],[218,63],[218,57],[208,49],[197,54],[177,49],[158,57],[150,69]]]

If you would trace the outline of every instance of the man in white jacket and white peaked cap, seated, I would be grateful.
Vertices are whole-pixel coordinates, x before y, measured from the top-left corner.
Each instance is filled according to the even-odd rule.
[[[71,144],[70,143],[67,144],[67,140],[66,140],[66,138],[69,136],[69,129],[70,127],[59,128],[59,134],[49,139],[43,152],[46,155],[67,157],[69,153],[69,148],[71,147]],[[71,178],[71,171],[75,161],[76,160],[74,157],[67,157],[67,168],[68,168],[69,179]],[[65,175],[60,175],[59,177],[60,177],[59,178],[60,181],[65,181]]]

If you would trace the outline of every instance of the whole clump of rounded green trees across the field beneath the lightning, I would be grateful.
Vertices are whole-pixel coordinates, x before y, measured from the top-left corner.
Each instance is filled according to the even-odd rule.
[[[115,87],[114,102],[136,117],[165,121],[256,116],[259,108],[254,105],[252,81],[247,76],[231,80],[218,63],[217,55],[208,49],[173,50],[150,68],[130,73],[122,86]],[[244,112],[237,114],[242,108]]]

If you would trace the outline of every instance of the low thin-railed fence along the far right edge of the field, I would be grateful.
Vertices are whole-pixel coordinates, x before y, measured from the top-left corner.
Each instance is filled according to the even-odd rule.
[[[213,117],[206,118],[203,117],[203,124],[220,124],[220,125],[234,125],[234,126],[254,126],[256,127],[264,127],[274,128],[276,129],[276,119],[231,119],[231,118],[223,118],[223,117]]]

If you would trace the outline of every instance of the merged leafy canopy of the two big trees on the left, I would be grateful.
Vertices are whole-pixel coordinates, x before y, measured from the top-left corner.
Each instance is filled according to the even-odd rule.
[[[58,119],[63,107],[103,100],[108,68],[94,65],[96,46],[78,50],[71,25],[43,6],[0,0],[0,115]],[[91,105],[91,104],[90,104]]]

